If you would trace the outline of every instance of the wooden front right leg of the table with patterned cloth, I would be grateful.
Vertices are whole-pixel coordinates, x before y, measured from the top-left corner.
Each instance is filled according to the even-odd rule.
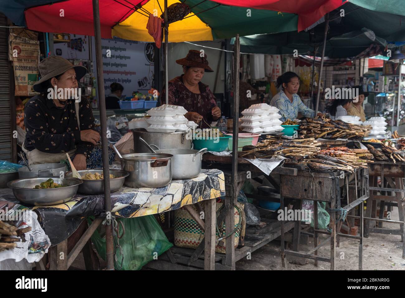
[[[205,201],[204,270],[215,270],[216,199]]]

